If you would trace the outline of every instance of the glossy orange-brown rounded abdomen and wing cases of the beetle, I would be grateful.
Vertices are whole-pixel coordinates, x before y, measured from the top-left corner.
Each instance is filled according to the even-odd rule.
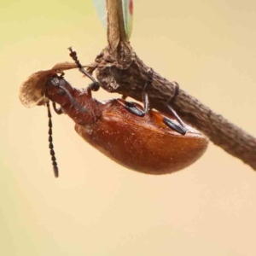
[[[90,126],[75,130],[93,147],[122,166],[137,172],[165,174],[176,172],[198,160],[208,140],[189,125],[185,136],[160,126],[160,114],[150,111],[145,117],[113,108]]]

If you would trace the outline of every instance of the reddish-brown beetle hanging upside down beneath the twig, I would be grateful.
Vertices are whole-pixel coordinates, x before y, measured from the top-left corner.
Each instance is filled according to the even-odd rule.
[[[70,51],[79,70],[88,75],[76,52],[71,48]],[[120,98],[97,101],[91,91],[98,90],[99,84],[91,77],[93,83],[78,90],[64,79],[64,74],[55,74],[45,85],[45,96],[53,102],[56,113],[66,113],[73,119],[75,131],[87,143],[121,166],[148,174],[172,173],[198,160],[206,151],[208,140],[200,131],[184,124],[171,106],[172,115],[148,107],[146,89],[152,76],[151,70],[143,90],[144,108]],[[175,96],[177,90],[169,105]],[[60,108],[56,108],[56,103]],[[53,165],[56,166],[55,157]]]

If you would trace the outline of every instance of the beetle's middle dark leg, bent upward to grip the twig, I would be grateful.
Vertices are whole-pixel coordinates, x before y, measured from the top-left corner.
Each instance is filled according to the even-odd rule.
[[[137,108],[133,102],[125,102],[126,110],[140,117],[143,117],[145,114],[148,113],[148,111],[150,110],[150,107],[149,107],[147,89],[148,89],[148,86],[152,84],[152,81],[153,81],[153,69],[150,68],[148,70],[148,80],[143,88],[143,110],[141,110],[140,108]],[[125,98],[126,96],[122,96],[122,99],[125,100]]]

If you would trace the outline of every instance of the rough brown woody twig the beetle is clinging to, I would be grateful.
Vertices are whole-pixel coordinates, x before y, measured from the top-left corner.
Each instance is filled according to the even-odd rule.
[[[113,11],[118,4],[120,0],[108,0],[108,20],[120,20],[120,12]],[[113,26],[113,22],[108,23],[109,46],[96,58],[97,79],[105,90],[141,101],[143,86],[148,79],[148,67],[134,53],[131,45],[125,42],[124,37],[120,36],[124,28],[120,29],[122,26],[120,21],[118,24],[119,26]],[[116,44],[117,36],[110,36],[112,30],[115,35],[119,35],[118,44]],[[154,81],[148,90],[151,106],[169,113],[166,102],[172,96],[174,86],[154,72]],[[205,133],[212,143],[256,170],[256,139],[246,131],[231,124],[220,114],[214,113],[183,90],[180,90],[173,108],[183,120]]]

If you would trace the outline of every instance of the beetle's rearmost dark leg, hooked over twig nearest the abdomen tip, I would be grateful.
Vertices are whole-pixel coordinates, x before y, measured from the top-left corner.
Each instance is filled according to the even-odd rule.
[[[173,82],[175,84],[175,90],[173,96],[166,102],[167,108],[172,112],[172,115],[177,119],[179,125],[175,124],[172,119],[164,118],[163,122],[171,129],[177,131],[178,133],[185,135],[186,134],[186,128],[183,123],[183,120],[178,116],[178,114],[175,112],[175,110],[171,107],[171,103],[173,103],[178,95],[179,86],[176,82]]]

